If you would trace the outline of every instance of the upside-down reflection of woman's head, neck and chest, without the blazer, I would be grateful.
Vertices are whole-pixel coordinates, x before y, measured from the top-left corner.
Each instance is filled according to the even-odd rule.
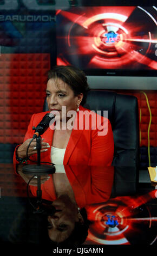
[[[64,173],[53,174],[53,183],[55,195],[52,194],[52,196],[55,196],[56,200],[52,205],[55,206],[57,212],[48,216],[48,235],[52,241],[57,243],[67,239],[70,242],[75,240],[80,243],[81,235],[85,239],[88,235],[88,225],[84,223],[67,175]]]

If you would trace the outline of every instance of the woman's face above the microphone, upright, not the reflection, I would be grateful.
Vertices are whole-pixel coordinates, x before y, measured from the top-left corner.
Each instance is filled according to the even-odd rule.
[[[49,111],[58,111],[61,118],[65,115],[62,113],[62,107],[66,107],[67,116],[68,111],[77,111],[77,106],[83,98],[82,93],[74,96],[70,86],[60,78],[57,78],[57,81],[54,78],[48,80],[46,93]]]

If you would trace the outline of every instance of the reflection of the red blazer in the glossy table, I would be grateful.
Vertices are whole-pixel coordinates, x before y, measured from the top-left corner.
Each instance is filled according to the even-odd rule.
[[[77,205],[80,208],[89,204],[106,202],[110,198],[113,186],[113,166],[64,166]],[[41,184],[42,198],[54,201],[57,199],[53,175]],[[36,186],[30,186],[36,197]]]

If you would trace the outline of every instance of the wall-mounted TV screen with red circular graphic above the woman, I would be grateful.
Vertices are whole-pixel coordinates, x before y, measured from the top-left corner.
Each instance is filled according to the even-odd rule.
[[[57,10],[57,65],[75,65],[90,76],[156,76],[156,10],[141,5]]]

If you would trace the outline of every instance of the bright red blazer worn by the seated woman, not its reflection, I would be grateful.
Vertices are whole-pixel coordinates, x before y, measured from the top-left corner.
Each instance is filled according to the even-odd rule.
[[[83,113],[85,113],[85,111],[87,111],[87,113],[90,112],[89,109],[83,108],[82,106],[80,106],[79,109],[80,111],[83,111]],[[34,135],[32,126],[36,127],[46,113],[48,112],[42,112],[32,115],[27,133],[24,137],[24,141],[26,141],[28,138],[32,138],[32,136]],[[95,117],[98,119],[97,114],[95,114]],[[107,134],[104,136],[98,136],[97,132],[99,132],[99,129],[97,129],[97,127],[96,130],[92,129],[93,124],[91,124],[91,120],[88,130],[85,129],[85,124],[83,124],[82,130],[75,130],[79,123],[79,115],[77,112],[77,118],[75,118],[73,131],[71,132],[71,136],[69,138],[63,164],[86,164],[90,166],[109,166],[112,164],[114,154],[112,127],[110,125],[110,121],[107,118],[101,117],[100,119],[100,125],[106,122],[108,128]],[[47,131],[45,131],[44,134],[41,136],[42,138],[44,138],[44,142],[47,142],[51,145],[53,140],[53,133],[54,130],[51,130],[49,127]],[[50,151],[51,148],[49,148],[48,151],[41,153],[42,162],[51,162]],[[30,158],[36,161],[37,154],[32,155]],[[17,161],[14,153],[14,166],[16,163]]]

